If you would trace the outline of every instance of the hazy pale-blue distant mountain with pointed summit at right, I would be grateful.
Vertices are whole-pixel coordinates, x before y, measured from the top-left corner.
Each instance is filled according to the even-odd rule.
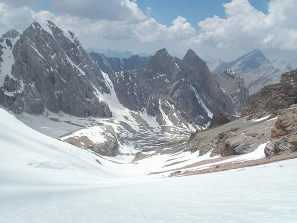
[[[223,62],[219,59],[207,61],[207,65],[213,73],[231,69],[241,76],[245,80],[250,94],[258,92],[268,84],[280,81],[283,72],[275,66],[276,63],[270,62],[259,49],[231,62]],[[281,68],[280,64],[278,67]],[[286,65],[286,67],[290,69],[291,65]]]

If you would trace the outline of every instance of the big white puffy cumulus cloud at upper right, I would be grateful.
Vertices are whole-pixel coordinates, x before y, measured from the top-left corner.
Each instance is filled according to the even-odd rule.
[[[198,22],[200,33],[191,39],[191,44],[223,49],[297,49],[297,0],[271,0],[267,14],[248,0],[232,0],[223,6],[227,18],[214,16]]]

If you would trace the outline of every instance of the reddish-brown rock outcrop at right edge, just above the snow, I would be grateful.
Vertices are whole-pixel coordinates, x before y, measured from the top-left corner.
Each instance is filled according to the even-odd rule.
[[[297,151],[297,104],[281,111],[271,129],[271,142],[265,147],[266,157]]]

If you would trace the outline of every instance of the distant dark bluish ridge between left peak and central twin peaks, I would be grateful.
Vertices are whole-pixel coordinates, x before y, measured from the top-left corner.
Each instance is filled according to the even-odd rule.
[[[141,57],[134,55],[128,59],[120,59],[107,57],[104,54],[98,54],[94,52],[90,53],[89,55],[96,62],[99,68],[105,73],[145,68],[148,65],[149,59],[151,58],[151,56]]]

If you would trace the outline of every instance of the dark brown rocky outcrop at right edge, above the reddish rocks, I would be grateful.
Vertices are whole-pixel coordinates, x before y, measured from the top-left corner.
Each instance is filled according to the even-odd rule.
[[[242,117],[277,116],[282,109],[297,103],[297,69],[282,75],[277,84],[265,86],[258,93],[251,95]]]

